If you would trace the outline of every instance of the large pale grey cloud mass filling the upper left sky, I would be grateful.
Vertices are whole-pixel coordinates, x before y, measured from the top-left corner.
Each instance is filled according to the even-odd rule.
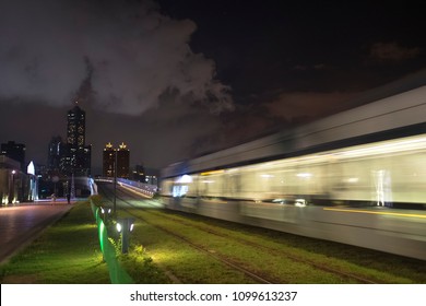
[[[188,43],[197,25],[155,2],[40,0],[0,4],[0,96],[61,106],[87,76],[104,110],[137,115],[174,91],[214,113],[233,107],[215,63]]]

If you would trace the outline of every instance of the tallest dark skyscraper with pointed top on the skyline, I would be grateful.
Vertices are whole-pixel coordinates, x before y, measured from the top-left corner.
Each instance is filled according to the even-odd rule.
[[[66,175],[88,176],[91,174],[92,145],[85,145],[85,111],[78,102],[68,111],[67,146],[62,158]]]

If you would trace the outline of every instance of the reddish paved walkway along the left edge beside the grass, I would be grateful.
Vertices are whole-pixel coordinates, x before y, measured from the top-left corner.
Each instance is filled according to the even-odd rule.
[[[29,244],[69,209],[66,199],[0,207],[0,263]]]

